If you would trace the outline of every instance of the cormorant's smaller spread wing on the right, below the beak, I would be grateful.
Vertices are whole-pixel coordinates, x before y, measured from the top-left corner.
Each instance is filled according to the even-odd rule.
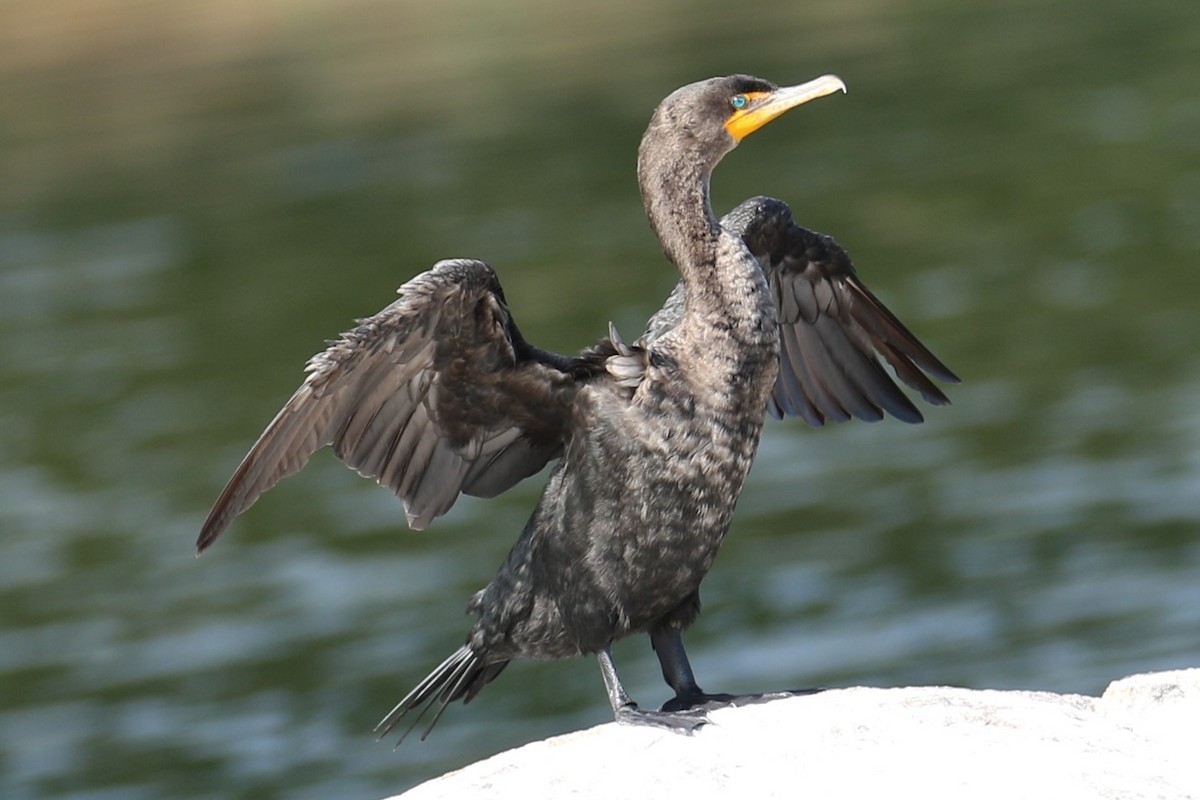
[[[763,265],[779,312],[779,378],[768,410],[812,426],[851,417],[877,421],[884,411],[905,422],[922,415],[883,368],[928,403],[946,395],[930,375],[959,378],[871,294],[846,251],[832,237],[800,228],[785,203],[752,198],[721,224],[742,236]]]

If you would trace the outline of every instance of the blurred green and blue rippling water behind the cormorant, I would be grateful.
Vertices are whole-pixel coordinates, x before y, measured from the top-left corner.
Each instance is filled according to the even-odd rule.
[[[192,543],[304,361],[452,255],[533,341],[674,281],[637,142],[713,74],[850,94],[719,168],[788,200],[965,383],[923,426],[768,425],[689,642],[720,691],[1098,693],[1200,664],[1192,0],[0,6],[0,795],[378,798],[610,718],[461,640],[540,482],[410,533],[325,451]],[[632,693],[666,699],[644,638]]]

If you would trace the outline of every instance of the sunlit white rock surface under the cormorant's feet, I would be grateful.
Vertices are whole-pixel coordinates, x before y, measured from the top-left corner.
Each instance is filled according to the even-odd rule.
[[[601,724],[397,795],[436,798],[1200,798],[1200,669],[1103,697],[841,688],[710,715],[692,736]]]

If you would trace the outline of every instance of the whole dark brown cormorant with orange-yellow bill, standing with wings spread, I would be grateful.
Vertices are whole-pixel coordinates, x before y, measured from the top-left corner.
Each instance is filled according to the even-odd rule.
[[[432,709],[424,739],[517,658],[594,655],[618,722],[680,733],[739,697],[768,697],[704,692],[683,643],[766,416],[920,422],[898,381],[932,405],[949,403],[932,379],[959,381],[787,204],[756,197],[721,219],[713,211],[709,178],[726,154],[839,91],[832,74],[794,86],[734,74],[658,106],[637,179],[679,282],[632,342],[610,324],[577,355],[532,344],[482,260],[442,260],[406,282],[308,361],[214,504],[197,554],[323,446],[390,488],[418,530],[461,494],[494,497],[553,463],[508,558],[468,603],[463,645],[380,735],[408,720],[407,736]],[[634,633],[649,636],[674,692],[656,710],[629,696],[613,662],[613,642]]]

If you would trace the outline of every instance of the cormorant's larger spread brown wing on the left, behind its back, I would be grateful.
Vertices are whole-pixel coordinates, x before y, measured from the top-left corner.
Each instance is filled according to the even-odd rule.
[[[566,356],[527,343],[492,267],[439,261],[308,362],[308,377],[229,479],[203,552],[258,497],[331,445],[425,528],[460,493],[493,497],[563,447]]]

